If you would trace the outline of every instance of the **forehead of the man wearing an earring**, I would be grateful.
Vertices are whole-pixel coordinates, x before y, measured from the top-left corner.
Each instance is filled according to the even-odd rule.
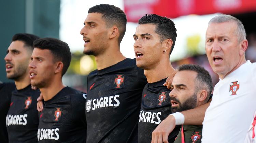
[[[139,24],[136,27],[135,34],[137,36],[139,36],[141,34],[145,34],[145,33],[148,33],[148,34],[151,34],[151,35],[158,35],[155,32],[155,29],[156,29],[156,25],[154,25],[154,24]]]

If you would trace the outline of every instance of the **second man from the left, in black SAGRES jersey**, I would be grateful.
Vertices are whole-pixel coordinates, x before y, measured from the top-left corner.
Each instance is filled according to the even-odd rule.
[[[40,89],[44,99],[38,142],[84,143],[86,94],[62,83],[71,61],[68,44],[54,38],[42,38],[35,40],[33,46],[29,64],[31,84]]]

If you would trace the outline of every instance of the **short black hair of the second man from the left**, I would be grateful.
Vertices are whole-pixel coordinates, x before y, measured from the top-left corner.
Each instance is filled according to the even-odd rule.
[[[63,63],[62,76],[66,73],[71,61],[71,52],[67,43],[55,38],[41,38],[33,42],[33,47],[50,50],[54,62]]]

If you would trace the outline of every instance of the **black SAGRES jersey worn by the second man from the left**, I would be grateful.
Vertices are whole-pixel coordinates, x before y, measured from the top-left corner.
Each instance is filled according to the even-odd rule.
[[[86,141],[86,94],[70,87],[63,88],[44,102],[40,113],[39,143],[84,143]]]

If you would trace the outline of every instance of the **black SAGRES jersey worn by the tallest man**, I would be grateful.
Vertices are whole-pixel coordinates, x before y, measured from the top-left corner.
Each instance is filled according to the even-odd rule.
[[[147,83],[135,59],[88,75],[87,143],[137,142],[141,93]]]

